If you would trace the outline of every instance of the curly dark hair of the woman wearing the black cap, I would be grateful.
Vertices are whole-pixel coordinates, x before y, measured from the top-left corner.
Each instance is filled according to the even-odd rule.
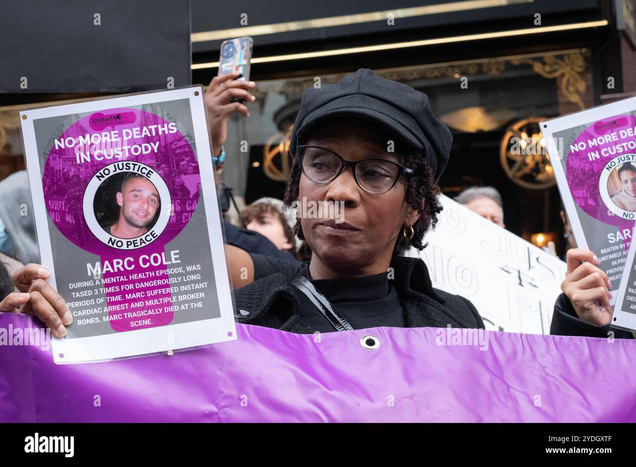
[[[294,157],[291,164],[283,200],[285,208],[289,208],[294,201],[298,200],[298,187],[300,186],[300,175],[302,173],[299,159]],[[422,250],[424,248],[424,245],[422,245],[424,234],[429,228],[435,228],[438,222],[438,214],[443,209],[438,198],[439,194],[441,194],[441,188],[435,180],[431,166],[421,152],[406,152],[404,165],[412,168],[415,173],[413,175],[403,175],[400,177],[399,183],[406,184],[406,203],[417,208],[420,217],[413,224],[414,234],[411,240],[407,240],[401,233],[397,236],[396,245],[393,248],[394,256],[399,255],[404,248],[408,248],[408,243],[411,243],[418,250]],[[422,203],[422,200],[425,200],[425,202]],[[300,240],[305,240],[300,219],[296,219],[296,224],[294,224],[292,231]]]

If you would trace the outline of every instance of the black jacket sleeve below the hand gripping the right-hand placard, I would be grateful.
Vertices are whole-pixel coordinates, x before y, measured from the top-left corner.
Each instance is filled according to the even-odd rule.
[[[579,320],[576,311],[570,303],[570,299],[561,294],[556,299],[555,309],[552,313],[552,322],[550,323],[551,335],[581,335],[584,337],[603,337],[607,338],[614,333],[616,339],[633,339],[633,334],[622,329],[612,328],[609,324],[605,326],[597,326],[586,321]]]

